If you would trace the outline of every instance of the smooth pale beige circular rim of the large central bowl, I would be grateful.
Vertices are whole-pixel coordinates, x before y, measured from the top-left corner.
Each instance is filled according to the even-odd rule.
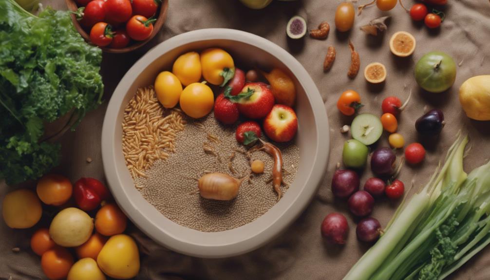
[[[144,215],[144,213],[140,212],[135,207],[132,199],[129,198],[129,195],[122,187],[123,182],[118,174],[118,168],[116,167],[116,164],[114,164],[116,161],[115,157],[117,151],[115,150],[115,145],[113,145],[113,143],[117,137],[114,130],[116,125],[118,125],[118,112],[124,97],[128,94],[127,89],[131,87],[136,77],[141,74],[141,69],[144,69],[151,64],[156,57],[160,57],[176,47],[193,42],[208,40],[229,40],[253,45],[280,60],[287,68],[294,72],[298,82],[304,88],[306,97],[309,99],[310,106],[312,107],[312,114],[315,119],[315,129],[317,131],[317,145],[315,148],[316,154],[314,158],[311,159],[311,161],[313,161],[313,167],[311,170],[309,170],[309,174],[307,175],[308,179],[304,183],[305,187],[303,187],[295,199],[289,205],[287,205],[287,207],[285,207],[279,215],[273,216],[274,220],[271,220],[270,223],[264,228],[258,231],[257,229],[254,229],[255,231],[253,234],[247,235],[247,238],[245,239],[238,240],[236,242],[223,241],[219,245],[209,243],[204,244],[204,241],[200,242],[201,240],[199,240],[200,243],[197,243],[198,241],[194,243],[187,242],[179,238],[178,232],[171,233],[168,229],[164,229],[152,223],[149,218]],[[159,244],[173,251],[195,257],[230,257],[244,254],[264,245],[274,236],[286,229],[287,226],[291,225],[309,205],[310,201],[317,192],[319,184],[325,175],[324,172],[327,167],[330,148],[328,117],[324,102],[319,94],[318,88],[313,82],[313,79],[304,69],[304,67],[289,52],[270,42],[269,40],[245,31],[227,28],[199,29],[174,36],[171,39],[153,47],[147,52],[147,54],[141,57],[126,72],[112,94],[103,121],[101,140],[102,162],[106,179],[109,188],[111,189],[112,194],[116,202],[120,205],[121,209],[140,230]],[[279,201],[279,203],[281,203],[281,201]],[[270,212],[270,210],[268,212]],[[268,212],[263,214],[261,217],[267,215]],[[257,218],[251,223],[245,224],[244,226],[225,232],[239,231],[241,228],[255,223],[261,217]],[[177,224],[175,223],[175,225]],[[186,227],[180,225],[178,226],[189,230]],[[250,230],[253,228],[247,227],[247,229]],[[209,238],[212,234],[214,233],[202,233],[202,236]]]

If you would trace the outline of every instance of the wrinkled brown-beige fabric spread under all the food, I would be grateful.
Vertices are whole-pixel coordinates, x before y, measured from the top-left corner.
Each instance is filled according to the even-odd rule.
[[[285,229],[268,245],[239,257],[225,259],[201,259],[173,253],[156,245],[136,228],[130,232],[137,237],[140,245],[142,268],[138,279],[329,279],[340,280],[368,246],[358,242],[355,223],[348,213],[346,203],[334,200],[329,189],[331,176],[337,162],[341,162],[343,141],[349,136],[339,132],[350,118],[343,117],[336,109],[339,95],[347,89],[358,91],[365,103],[362,112],[380,114],[381,100],[388,95],[405,99],[413,90],[413,101],[399,119],[399,132],[407,142],[418,140],[414,122],[426,109],[443,110],[446,126],[436,141],[425,141],[428,148],[425,162],[417,167],[406,166],[400,175],[406,186],[413,181],[415,186],[425,184],[433,173],[438,161],[454,140],[455,133],[462,129],[469,132],[473,149],[466,158],[467,171],[479,166],[490,158],[490,123],[471,121],[461,110],[458,102],[458,88],[469,77],[490,74],[490,3],[488,0],[448,0],[446,20],[441,29],[428,30],[423,24],[412,23],[404,10],[397,6],[386,13],[376,8],[366,9],[356,17],[351,32],[335,32],[333,20],[335,7],[341,0],[298,0],[296,2],[274,1],[269,7],[253,11],[242,6],[238,0],[170,0],[167,22],[161,33],[147,46],[126,55],[104,54],[102,75],[105,83],[105,102],[91,112],[80,124],[76,132],[67,133],[63,141],[63,164],[59,172],[74,182],[81,176],[104,180],[100,156],[100,133],[107,100],[119,80],[129,67],[150,47],[174,35],[200,28],[227,27],[252,32],[290,51],[310,73],[325,101],[330,125],[331,154],[325,180],[310,206],[289,228]],[[361,3],[368,0],[361,0]],[[414,1],[404,0],[410,7]],[[44,0],[57,9],[65,9],[63,0]],[[304,41],[287,40],[285,25],[295,14],[302,15],[308,27],[327,20],[332,29],[326,41],[305,38]],[[359,26],[369,20],[391,15],[392,20],[386,34],[369,37],[359,30]],[[412,57],[399,59],[389,50],[388,42],[395,31],[410,31],[417,39],[417,49]],[[348,39],[360,53],[361,71],[374,61],[382,62],[388,69],[386,84],[372,87],[365,81],[362,72],[356,79],[347,78],[350,54]],[[337,49],[337,59],[329,73],[322,72],[322,61],[328,46]],[[430,94],[419,90],[413,77],[415,62],[425,52],[443,50],[456,61],[461,62],[455,85],[446,93]],[[327,124],[325,123],[325,129]],[[380,145],[387,145],[384,135]],[[92,163],[85,159],[91,157]],[[366,169],[362,182],[370,176]],[[0,201],[7,187],[2,183]],[[377,203],[373,217],[386,225],[397,203],[382,201]],[[332,212],[344,213],[350,225],[348,242],[343,247],[327,246],[319,233],[323,217]],[[46,219],[48,220],[48,219]],[[46,223],[47,221],[43,221]],[[43,279],[39,257],[29,249],[28,238],[31,230],[12,230],[0,223],[0,279]],[[20,253],[13,253],[13,247],[20,247]],[[490,279],[490,248],[473,257],[451,279]]]

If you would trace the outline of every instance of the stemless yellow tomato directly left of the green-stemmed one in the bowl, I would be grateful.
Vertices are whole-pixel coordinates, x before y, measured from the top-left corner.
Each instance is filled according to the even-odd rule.
[[[202,73],[199,54],[190,51],[179,56],[173,63],[172,73],[184,86],[197,83],[201,79]]]

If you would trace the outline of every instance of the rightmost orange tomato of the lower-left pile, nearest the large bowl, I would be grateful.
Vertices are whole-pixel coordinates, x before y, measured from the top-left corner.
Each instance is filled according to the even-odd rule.
[[[126,224],[126,215],[114,203],[104,205],[95,216],[95,228],[98,233],[105,236],[123,233]]]

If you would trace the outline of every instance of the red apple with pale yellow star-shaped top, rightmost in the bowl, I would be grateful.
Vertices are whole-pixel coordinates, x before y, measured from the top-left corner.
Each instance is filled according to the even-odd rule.
[[[276,104],[264,119],[264,132],[270,140],[287,142],[294,138],[298,130],[298,119],[293,108]]]

